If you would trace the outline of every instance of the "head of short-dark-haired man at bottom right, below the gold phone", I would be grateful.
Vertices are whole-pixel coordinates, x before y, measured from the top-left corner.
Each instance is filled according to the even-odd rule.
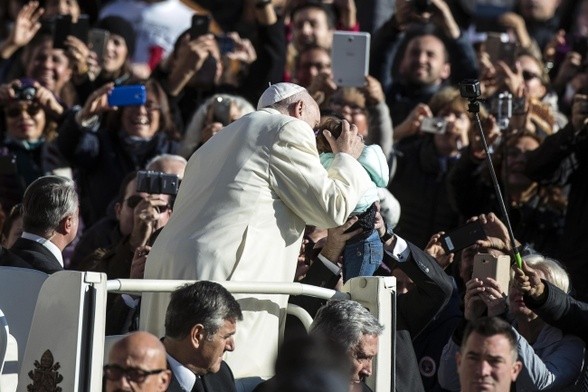
[[[509,392],[523,367],[517,356],[517,337],[509,323],[498,317],[472,321],[456,358],[462,392]]]

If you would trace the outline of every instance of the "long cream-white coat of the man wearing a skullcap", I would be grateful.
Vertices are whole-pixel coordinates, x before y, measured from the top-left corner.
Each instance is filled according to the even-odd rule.
[[[292,282],[305,225],[343,224],[369,185],[348,154],[325,170],[305,122],[273,109],[248,114],[190,158],[145,278]],[[270,376],[287,297],[235,297],[246,312],[227,362],[235,377]],[[142,329],[163,336],[168,301],[143,295]]]

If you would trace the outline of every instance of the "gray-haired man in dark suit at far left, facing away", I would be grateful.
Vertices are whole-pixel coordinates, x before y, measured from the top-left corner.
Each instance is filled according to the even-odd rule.
[[[76,237],[79,202],[73,181],[45,176],[23,198],[23,233],[0,257],[0,265],[51,274],[63,270],[63,249]]]

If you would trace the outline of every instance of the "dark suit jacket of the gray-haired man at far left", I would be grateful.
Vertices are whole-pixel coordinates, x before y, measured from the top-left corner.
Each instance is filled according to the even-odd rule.
[[[49,249],[26,238],[19,238],[12,248],[0,255],[0,265],[36,269],[47,274],[63,270]]]

